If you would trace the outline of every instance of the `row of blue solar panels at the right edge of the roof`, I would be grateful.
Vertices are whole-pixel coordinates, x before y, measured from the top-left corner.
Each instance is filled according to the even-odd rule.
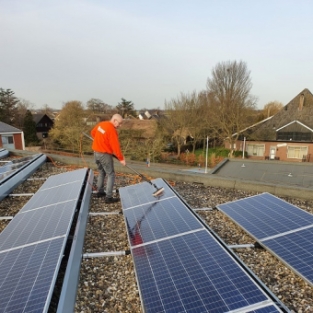
[[[313,215],[269,193],[217,208],[313,285]]]

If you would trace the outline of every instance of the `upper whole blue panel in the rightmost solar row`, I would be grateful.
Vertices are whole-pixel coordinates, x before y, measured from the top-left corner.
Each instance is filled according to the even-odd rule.
[[[313,215],[269,193],[220,204],[217,208],[260,240],[313,224]]]

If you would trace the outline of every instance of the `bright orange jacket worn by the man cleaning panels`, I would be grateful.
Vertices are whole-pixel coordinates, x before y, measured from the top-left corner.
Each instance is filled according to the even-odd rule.
[[[124,160],[118,134],[110,121],[98,123],[90,132],[93,138],[92,150],[100,153],[114,154],[119,161]]]

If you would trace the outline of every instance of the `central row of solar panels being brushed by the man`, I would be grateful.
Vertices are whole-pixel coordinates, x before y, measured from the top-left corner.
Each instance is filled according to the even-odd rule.
[[[145,312],[282,312],[162,179],[120,188]],[[237,312],[237,311],[236,311]]]

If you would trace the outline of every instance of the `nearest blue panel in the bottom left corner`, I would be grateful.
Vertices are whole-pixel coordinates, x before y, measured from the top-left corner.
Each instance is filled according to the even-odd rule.
[[[0,311],[46,312],[64,238],[0,252]]]

